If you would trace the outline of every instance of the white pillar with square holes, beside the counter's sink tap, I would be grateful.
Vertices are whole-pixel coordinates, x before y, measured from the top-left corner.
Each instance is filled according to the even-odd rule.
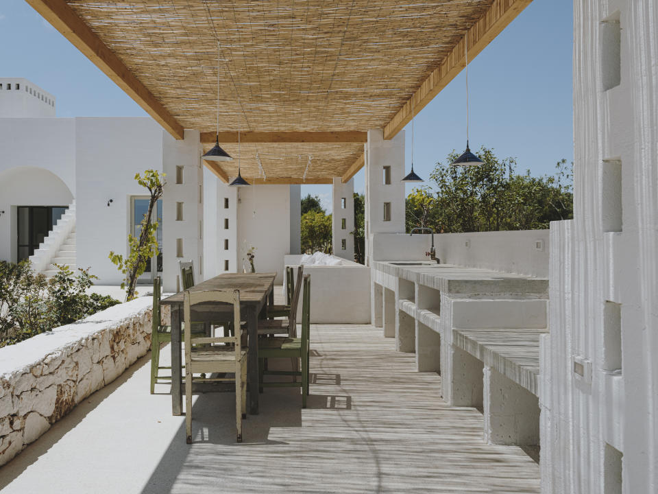
[[[368,130],[365,144],[365,263],[373,236],[404,233],[404,131],[385,140],[381,129]]]

